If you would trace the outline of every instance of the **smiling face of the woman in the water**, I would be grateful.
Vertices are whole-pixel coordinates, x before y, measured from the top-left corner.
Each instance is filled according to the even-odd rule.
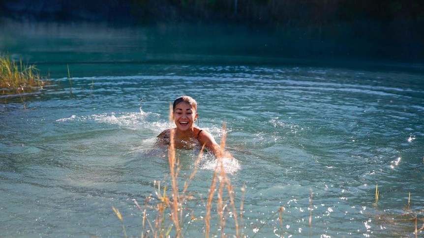
[[[197,120],[196,109],[188,103],[181,102],[175,106],[174,122],[177,125],[177,130],[192,131],[193,124]]]

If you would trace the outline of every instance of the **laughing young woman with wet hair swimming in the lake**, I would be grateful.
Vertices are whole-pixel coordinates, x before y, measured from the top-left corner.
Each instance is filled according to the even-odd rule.
[[[181,96],[174,101],[173,118],[176,128],[170,128],[161,132],[158,144],[169,145],[171,131],[174,132],[174,146],[177,149],[194,149],[203,146],[215,157],[231,157],[229,153],[221,153],[220,146],[216,143],[212,134],[194,125],[197,120],[197,102],[189,96]]]

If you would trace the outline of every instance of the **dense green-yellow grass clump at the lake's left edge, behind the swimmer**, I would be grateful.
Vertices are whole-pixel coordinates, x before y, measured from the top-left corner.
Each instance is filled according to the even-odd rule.
[[[0,95],[12,98],[18,97],[26,109],[26,95],[42,89],[45,80],[39,75],[35,65],[23,64],[22,60],[17,63],[9,56],[0,56]]]

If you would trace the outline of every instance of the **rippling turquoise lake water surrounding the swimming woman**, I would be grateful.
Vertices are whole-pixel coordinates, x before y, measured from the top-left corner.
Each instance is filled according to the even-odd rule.
[[[169,103],[187,94],[199,103],[199,127],[219,141],[227,126],[237,162],[226,169],[238,207],[245,187],[246,237],[414,237],[411,218],[420,228],[424,209],[422,66],[276,59],[254,47],[271,37],[238,47],[241,39],[218,33],[3,26],[1,52],[36,62],[52,85],[28,96],[27,110],[1,98],[1,236],[123,237],[114,206],[127,235],[140,237],[133,199],[144,204],[154,181],[168,181],[154,137],[169,126]],[[197,152],[178,152],[182,180]],[[204,156],[190,184],[196,216],[215,163]],[[203,227],[186,219],[184,237],[204,236]],[[231,218],[225,230],[235,234]]]

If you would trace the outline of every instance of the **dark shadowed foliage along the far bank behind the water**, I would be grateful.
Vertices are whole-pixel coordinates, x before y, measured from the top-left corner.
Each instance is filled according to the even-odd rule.
[[[422,0],[0,0],[3,17],[120,24],[216,22],[322,25],[424,22]]]

